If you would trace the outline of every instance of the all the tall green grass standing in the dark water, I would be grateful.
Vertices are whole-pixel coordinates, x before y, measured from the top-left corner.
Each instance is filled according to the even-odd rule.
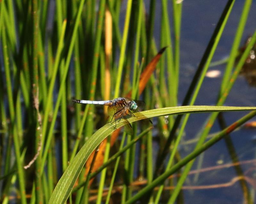
[[[57,0],[55,7],[47,0],[0,1],[0,60],[4,71],[0,76],[0,202],[109,203],[111,189],[118,185],[122,187],[119,191],[122,203],[140,199],[158,203],[168,180],[176,186],[169,192],[168,200],[174,203],[195,159],[255,116],[255,107],[223,106],[256,42],[254,32],[235,63],[242,36],[247,34],[244,28],[252,1],[246,0],[239,14],[225,74],[217,90],[216,106],[194,104],[235,1],[229,0],[225,8],[220,8],[222,13],[183,101],[178,101],[180,36],[185,20],[182,3],[173,0],[169,5],[170,1],[162,0],[161,10],[157,10],[157,3],[151,0],[149,10],[145,11],[142,0],[128,0],[124,12],[122,1],[104,0],[97,5],[93,0]],[[121,14],[125,16],[122,29]],[[161,16],[159,39],[154,36],[156,15]],[[160,47],[156,46],[157,42]],[[166,46],[164,53],[156,56]],[[156,62],[152,63],[152,59]],[[150,63],[153,65],[149,66]],[[153,74],[145,74],[151,68],[155,70]],[[154,136],[159,138],[159,152],[153,149],[150,128],[143,127],[140,133],[140,123],[134,123],[133,135],[121,135],[108,123],[106,109],[99,112],[98,106],[72,103],[73,98],[103,100],[120,96],[146,102],[148,111],[144,115],[157,118]],[[182,106],[177,106],[178,102]],[[223,127],[205,142],[219,112],[242,110],[252,112]],[[199,134],[196,148],[177,161],[188,118],[201,112],[211,115]],[[168,125],[163,120],[165,115],[169,115],[165,119]],[[129,118],[131,122],[141,119]],[[123,125],[123,120],[116,122],[116,128]],[[105,138],[105,143],[101,143]],[[96,153],[95,149],[98,149]],[[24,169],[36,153],[35,163]],[[153,155],[158,156],[153,158]],[[181,173],[177,181],[168,179],[177,172]],[[99,179],[92,182],[90,179],[98,174]],[[131,187],[136,179],[134,175],[147,178],[146,185]],[[152,193],[155,187],[159,188]],[[93,189],[97,193],[92,193]],[[244,200],[253,203],[246,184],[241,182],[241,189]],[[97,199],[90,201],[93,195]]]

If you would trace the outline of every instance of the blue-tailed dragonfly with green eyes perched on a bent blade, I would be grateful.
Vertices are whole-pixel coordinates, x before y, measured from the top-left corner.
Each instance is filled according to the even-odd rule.
[[[136,117],[134,113],[137,113],[138,116],[142,117],[144,120],[144,123],[150,125],[152,124],[152,121],[149,120],[145,115],[139,112],[139,109],[143,108],[145,106],[144,101],[139,100],[132,100],[129,98],[123,98],[119,97],[113,100],[105,100],[105,101],[91,101],[91,100],[73,100],[73,102],[76,103],[82,103],[82,104],[95,104],[95,105],[105,105],[108,106],[108,114],[111,117],[110,123],[116,120],[124,119],[125,120],[125,126],[124,131],[132,135],[132,125],[127,120],[127,116]]]

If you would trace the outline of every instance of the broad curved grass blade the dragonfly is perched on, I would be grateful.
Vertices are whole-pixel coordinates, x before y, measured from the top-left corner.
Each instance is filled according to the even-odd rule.
[[[201,113],[201,112],[222,112],[222,111],[238,111],[238,110],[256,110],[256,107],[232,107],[232,106],[179,106],[159,108],[141,112],[147,118],[164,116],[170,114],[186,114],[186,113]],[[144,119],[134,113],[136,117],[127,119],[130,123]],[[124,120],[117,121],[116,128],[125,125]],[[64,203],[70,195],[72,188],[78,178],[85,162],[91,155],[93,150],[104,140],[109,134],[115,130],[114,126],[107,123],[105,126],[96,131],[83,145],[76,157],[70,162],[70,165],[63,173],[57,186],[55,187],[49,203]]]

